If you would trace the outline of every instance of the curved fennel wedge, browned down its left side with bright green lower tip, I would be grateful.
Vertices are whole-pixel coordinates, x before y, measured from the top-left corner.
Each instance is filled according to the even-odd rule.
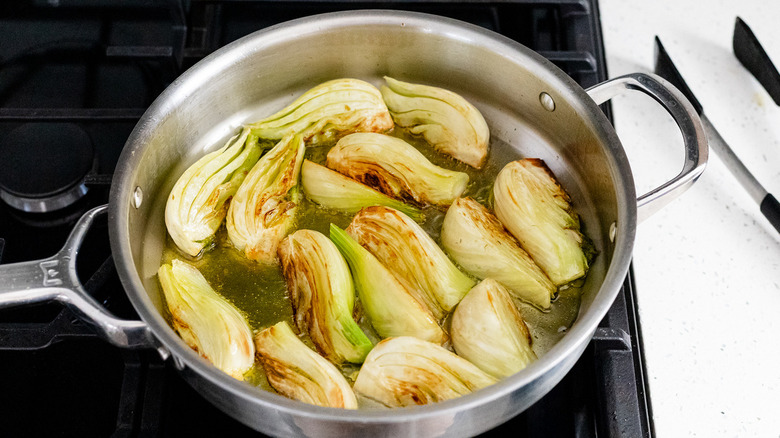
[[[331,362],[363,362],[374,345],[352,319],[355,287],[336,245],[317,231],[298,230],[278,252],[298,329]]]

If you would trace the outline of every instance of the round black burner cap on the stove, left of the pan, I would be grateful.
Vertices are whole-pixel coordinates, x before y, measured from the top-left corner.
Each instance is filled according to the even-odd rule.
[[[0,197],[23,211],[64,208],[86,193],[94,156],[92,139],[78,125],[21,125],[0,142]]]

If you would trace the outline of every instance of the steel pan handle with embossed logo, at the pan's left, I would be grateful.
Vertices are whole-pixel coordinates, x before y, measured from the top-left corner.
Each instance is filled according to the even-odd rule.
[[[154,348],[156,341],[142,321],[118,319],[95,301],[76,275],[76,255],[92,222],[108,206],[84,214],[62,249],[52,257],[0,265],[0,308],[59,301],[69,306],[98,335],[123,348]]]

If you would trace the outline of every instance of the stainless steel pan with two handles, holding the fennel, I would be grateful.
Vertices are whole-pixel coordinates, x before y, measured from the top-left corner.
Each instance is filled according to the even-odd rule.
[[[383,75],[438,85],[485,115],[506,160],[543,158],[575,199],[600,254],[579,316],[563,339],[525,370],[472,395],[435,405],[345,411],[260,391],[218,371],[187,347],[162,317],[156,278],[165,238],[162,209],[176,177],[242,123],[328,79]],[[620,140],[598,104],[625,90],[654,98],[675,118],[686,159],[681,173],[637,200]],[[497,147],[496,150],[501,149]],[[587,346],[626,275],[639,220],[701,174],[701,123],[685,98],[643,74],[583,90],[535,52],[492,32],[432,15],[390,11],[326,14],[249,35],[178,78],[147,110],[120,157],[108,206],[117,269],[141,321],[103,310],[75,277],[75,256],[99,207],[54,257],[0,266],[0,306],[62,301],[110,342],[156,348],[214,405],[268,434],[284,436],[470,436],[521,412],[549,391]]]

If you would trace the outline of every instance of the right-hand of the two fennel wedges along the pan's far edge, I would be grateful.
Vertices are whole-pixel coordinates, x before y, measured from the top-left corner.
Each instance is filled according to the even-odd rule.
[[[457,93],[385,76],[382,97],[393,120],[439,152],[481,169],[490,142],[482,114]]]

